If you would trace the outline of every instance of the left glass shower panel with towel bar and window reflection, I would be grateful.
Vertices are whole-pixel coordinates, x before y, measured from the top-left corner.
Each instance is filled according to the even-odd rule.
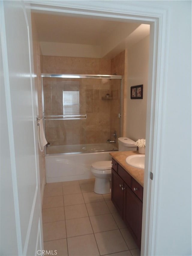
[[[43,78],[46,153],[86,151],[80,79]],[[80,106],[81,104],[81,106]]]

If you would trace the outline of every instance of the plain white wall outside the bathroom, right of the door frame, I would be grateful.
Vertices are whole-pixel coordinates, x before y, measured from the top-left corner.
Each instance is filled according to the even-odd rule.
[[[191,1],[151,2],[170,24],[156,255],[191,255]]]

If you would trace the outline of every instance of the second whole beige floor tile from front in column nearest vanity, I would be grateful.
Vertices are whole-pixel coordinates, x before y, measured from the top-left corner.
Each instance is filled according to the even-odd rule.
[[[111,213],[90,216],[94,233],[117,229],[117,225]]]

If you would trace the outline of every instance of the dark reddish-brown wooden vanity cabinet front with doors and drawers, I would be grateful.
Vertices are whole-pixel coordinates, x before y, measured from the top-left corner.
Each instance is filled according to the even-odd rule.
[[[112,163],[111,200],[141,248],[143,187],[113,158]]]

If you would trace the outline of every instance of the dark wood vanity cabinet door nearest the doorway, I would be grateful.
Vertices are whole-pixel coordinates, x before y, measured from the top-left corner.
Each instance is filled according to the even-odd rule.
[[[141,248],[143,203],[126,184],[124,191],[124,221],[130,227],[137,245]]]

